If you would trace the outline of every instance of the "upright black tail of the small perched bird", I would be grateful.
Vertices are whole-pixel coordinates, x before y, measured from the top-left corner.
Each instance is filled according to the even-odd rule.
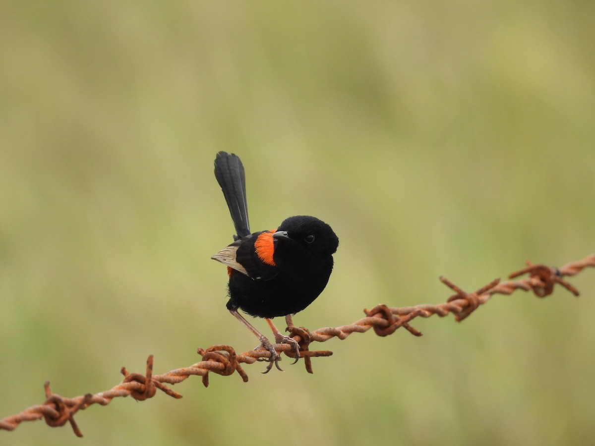
[[[238,238],[250,234],[248,203],[246,202],[246,174],[240,158],[234,153],[219,152],[215,158],[215,178],[227,202]]]

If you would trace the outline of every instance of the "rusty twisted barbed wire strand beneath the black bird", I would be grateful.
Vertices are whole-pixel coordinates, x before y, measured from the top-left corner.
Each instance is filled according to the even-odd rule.
[[[472,312],[486,303],[494,294],[512,294],[516,290],[533,291],[537,297],[546,297],[553,293],[556,284],[561,285],[570,291],[574,296],[578,296],[578,290],[563,277],[572,277],[581,272],[584,268],[595,267],[595,254],[585,257],[577,262],[567,263],[561,268],[550,267],[546,265],[536,265],[527,262],[527,267],[519,269],[509,275],[509,279],[529,274],[529,277],[516,281],[500,282],[500,279],[494,279],[489,284],[481,287],[472,293],[466,293],[457,285],[444,277],[440,277],[443,282],[455,294],[450,296],[446,302],[437,305],[421,304],[412,307],[388,307],[379,304],[371,310],[364,310],[365,318],[353,322],[349,325],[343,325],[336,328],[326,327],[315,331],[309,331],[304,327],[289,326],[287,331],[300,346],[300,357],[304,359],[306,371],[312,373],[312,357],[331,356],[330,350],[309,350],[312,342],[325,342],[331,338],[344,340],[350,334],[364,333],[369,329],[374,329],[378,336],[388,336],[393,334],[398,328],[405,328],[406,331],[415,336],[421,336],[421,332],[409,325],[413,319],[429,318],[433,315],[444,316],[452,313],[456,321],[462,321],[471,315]],[[291,353],[292,346],[288,344],[277,344],[275,350],[284,353]],[[20,423],[24,421],[33,421],[44,419],[52,427],[64,426],[70,423],[74,434],[83,436],[77,423],[74,421],[74,414],[79,410],[84,410],[92,404],[106,406],[111,400],[117,397],[131,396],[137,401],[144,401],[155,396],[157,390],[161,390],[170,397],[181,398],[182,395],[171,390],[167,386],[179,384],[190,378],[190,376],[202,376],[202,383],[205,387],[209,385],[209,372],[217,373],[222,376],[230,376],[237,372],[244,382],[248,381],[248,375],[240,364],[252,364],[258,360],[266,360],[270,357],[270,351],[265,348],[249,350],[237,354],[230,346],[215,345],[206,349],[199,348],[198,354],[202,356],[201,362],[191,366],[171,370],[162,375],[153,375],[153,355],[147,359],[145,374],[130,373],[126,368],[121,369],[124,380],[110,390],[99,392],[98,394],[86,394],[74,398],[62,397],[51,391],[49,381],[43,385],[45,389],[46,400],[37,406],[31,406],[22,412],[14,414],[0,420],[0,430],[13,431]]]

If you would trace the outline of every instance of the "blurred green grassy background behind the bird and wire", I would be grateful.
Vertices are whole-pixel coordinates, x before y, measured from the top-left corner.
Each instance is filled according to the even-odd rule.
[[[317,329],[592,253],[595,4],[14,2],[0,7],[0,418],[255,338],[209,257],[307,213],[340,238]],[[463,323],[332,340],[250,381],[37,421],[2,444],[593,444],[595,271]],[[264,330],[264,321],[255,321]],[[279,325],[283,325],[279,321]]]

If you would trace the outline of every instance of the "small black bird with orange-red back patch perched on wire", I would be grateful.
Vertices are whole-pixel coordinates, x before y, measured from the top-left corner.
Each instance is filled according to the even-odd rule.
[[[281,370],[281,359],[267,337],[258,331],[239,310],[264,318],[273,331],[275,343],[290,344],[295,362],[300,357],[299,344],[282,335],[271,319],[291,316],[311,304],[326,287],[333,271],[333,254],[339,238],[322,220],[309,215],[284,219],[277,228],[252,233],[246,200],[246,174],[242,161],[234,153],[218,152],[215,178],[226,199],[236,230],[234,242],[211,259],[227,266],[229,277],[229,312],[258,337],[260,345],[270,352],[265,372],[273,364]],[[294,363],[295,363],[294,362]]]

